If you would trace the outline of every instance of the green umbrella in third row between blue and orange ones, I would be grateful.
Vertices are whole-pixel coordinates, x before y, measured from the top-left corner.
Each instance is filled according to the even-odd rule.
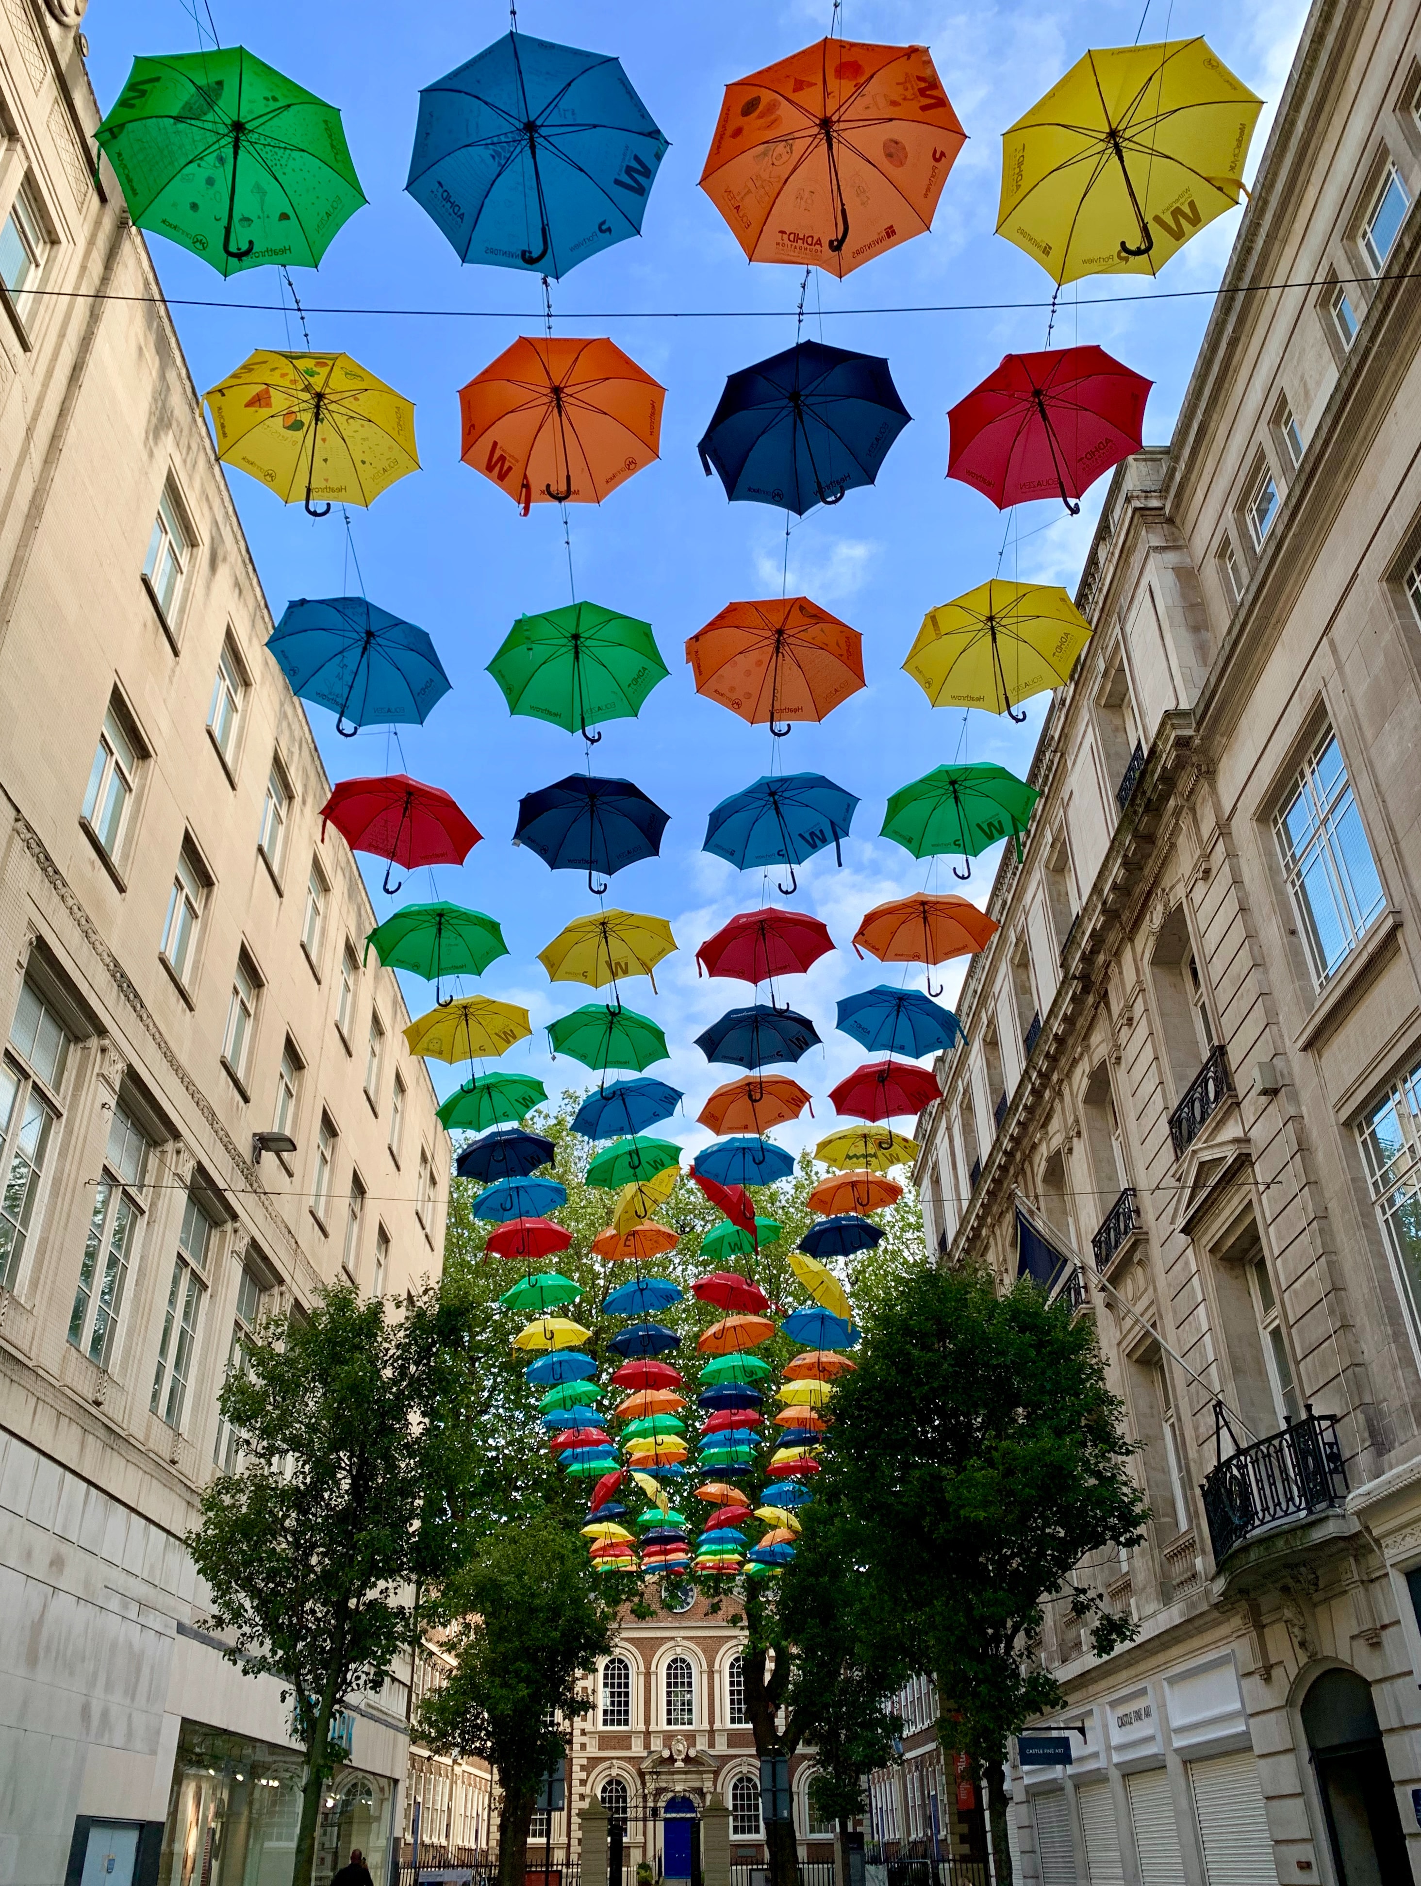
[[[574,602],[547,615],[521,615],[489,662],[510,713],[549,720],[587,741],[598,720],[634,717],[666,664],[649,622]]]

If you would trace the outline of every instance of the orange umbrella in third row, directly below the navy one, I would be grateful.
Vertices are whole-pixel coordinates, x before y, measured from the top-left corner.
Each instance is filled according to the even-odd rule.
[[[685,645],[696,694],[753,726],[823,720],[864,685],[864,637],[808,596],[728,602]]]

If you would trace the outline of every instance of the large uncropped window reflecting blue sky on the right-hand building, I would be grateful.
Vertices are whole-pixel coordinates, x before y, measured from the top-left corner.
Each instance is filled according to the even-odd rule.
[[[1321,988],[1387,902],[1330,728],[1304,760],[1276,832],[1298,932]]]

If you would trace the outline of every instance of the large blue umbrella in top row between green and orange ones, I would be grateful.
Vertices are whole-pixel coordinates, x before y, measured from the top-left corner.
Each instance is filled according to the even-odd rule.
[[[642,234],[664,155],[615,58],[510,32],[419,94],[406,190],[460,262],[557,279]]]

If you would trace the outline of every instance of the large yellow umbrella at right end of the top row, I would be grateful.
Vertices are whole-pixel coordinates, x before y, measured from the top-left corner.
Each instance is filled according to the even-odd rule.
[[[1087,53],[1002,134],[996,234],[1055,283],[1155,275],[1247,194],[1261,109],[1204,40]]]

